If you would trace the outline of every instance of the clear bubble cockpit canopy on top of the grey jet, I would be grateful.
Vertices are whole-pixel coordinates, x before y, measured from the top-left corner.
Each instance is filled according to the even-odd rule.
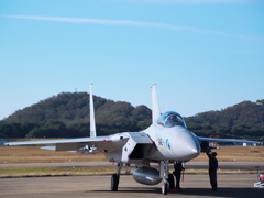
[[[175,125],[187,128],[184,118],[175,111],[167,111],[163,113],[156,120],[156,123],[163,125],[164,128],[173,128]]]

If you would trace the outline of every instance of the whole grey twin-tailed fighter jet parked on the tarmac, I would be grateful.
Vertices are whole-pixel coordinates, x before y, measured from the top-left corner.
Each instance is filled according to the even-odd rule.
[[[109,162],[117,165],[117,173],[111,177],[111,190],[119,187],[120,173],[123,166],[130,173],[135,165],[133,178],[143,185],[157,185],[163,182],[162,194],[167,195],[174,186],[169,174],[169,164],[188,162],[201,152],[210,151],[209,142],[257,143],[233,139],[200,138],[187,129],[184,118],[176,111],[161,113],[156,85],[152,86],[152,124],[140,132],[122,132],[108,136],[97,136],[92,85],[90,85],[90,138],[8,142],[6,145],[55,144],[42,148],[55,151],[76,151],[91,153],[102,152]]]

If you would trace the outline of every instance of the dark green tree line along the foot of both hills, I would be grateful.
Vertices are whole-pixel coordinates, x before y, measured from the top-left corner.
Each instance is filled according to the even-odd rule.
[[[146,125],[150,123],[145,123]],[[215,136],[226,139],[264,140],[264,129],[250,125],[207,125],[187,123],[188,129],[198,136]],[[144,130],[135,122],[125,124],[97,124],[98,135],[110,135],[119,132],[138,132]],[[66,125],[61,121],[45,122],[0,122],[0,138],[82,138],[89,136],[89,123]]]

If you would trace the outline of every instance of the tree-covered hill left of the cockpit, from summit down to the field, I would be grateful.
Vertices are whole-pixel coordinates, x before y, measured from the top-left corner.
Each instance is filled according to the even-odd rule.
[[[141,131],[151,124],[146,106],[94,96],[98,135]],[[0,121],[0,138],[77,138],[89,135],[89,95],[62,92]]]

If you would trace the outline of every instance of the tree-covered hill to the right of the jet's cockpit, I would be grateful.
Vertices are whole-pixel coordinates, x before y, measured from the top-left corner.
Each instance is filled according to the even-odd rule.
[[[243,101],[221,111],[208,111],[186,119],[198,135],[264,140],[264,100]]]

